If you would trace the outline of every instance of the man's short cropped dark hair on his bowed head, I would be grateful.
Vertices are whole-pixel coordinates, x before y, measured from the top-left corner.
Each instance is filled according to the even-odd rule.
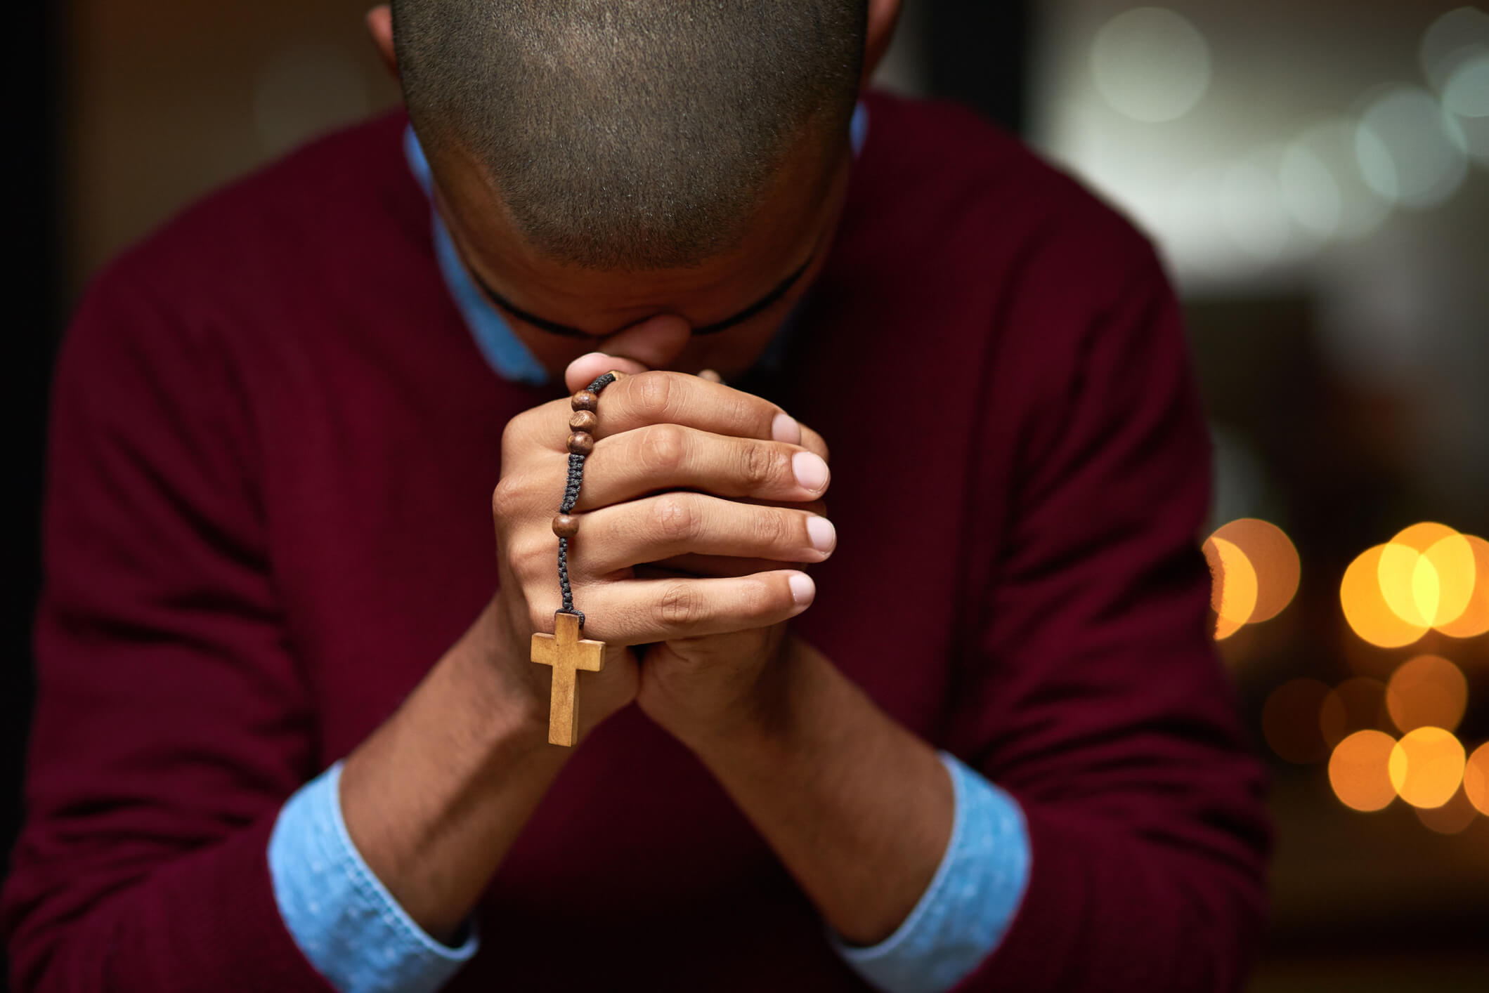
[[[393,42],[421,141],[472,153],[532,244],[660,269],[737,246],[792,147],[846,143],[865,9],[393,0]]]

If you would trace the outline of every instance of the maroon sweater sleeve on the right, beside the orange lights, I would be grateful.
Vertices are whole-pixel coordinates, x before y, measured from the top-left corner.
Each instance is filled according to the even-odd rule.
[[[1015,454],[977,485],[1014,499],[977,526],[999,551],[974,557],[948,750],[1018,801],[1032,871],[957,993],[1234,990],[1264,916],[1264,771],[1208,630],[1179,307],[1145,240],[1090,235],[1026,261],[996,363],[1015,374],[989,374],[1013,402],[984,439]]]

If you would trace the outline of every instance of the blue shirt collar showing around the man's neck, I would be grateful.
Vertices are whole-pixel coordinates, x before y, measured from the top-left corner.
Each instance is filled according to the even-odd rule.
[[[858,107],[853,110],[853,119],[849,124],[849,138],[853,143],[853,155],[858,156],[859,150],[864,147],[864,140],[868,137],[868,107],[859,101]],[[404,155],[408,158],[408,168],[414,173],[414,179],[423,188],[424,195],[430,195],[430,179],[429,179],[429,159],[424,158],[424,149],[420,147],[418,138],[414,135],[412,125],[404,128]],[[450,231],[445,228],[444,220],[439,217],[439,211],[435,210],[430,201],[430,217],[435,235],[435,259],[439,264],[439,274],[444,277],[445,289],[450,290],[450,296],[465,319],[466,328],[471,329],[471,336],[475,338],[476,347],[485,357],[487,363],[493,371],[503,380],[511,380],[514,383],[524,383],[530,386],[542,386],[554,380],[554,377],[542,366],[541,362],[529,351],[523,339],[518,338],[512,328],[506,323],[506,317],[502,316],[481,287],[475,284],[471,274],[466,272],[465,265],[460,262],[460,256],[456,253],[454,241],[450,238]],[[771,338],[765,351],[756,360],[755,368],[768,372],[779,372],[782,360],[786,353],[786,341],[791,336],[797,325],[797,314],[801,310],[800,304],[786,316],[780,323],[780,329],[776,336]]]

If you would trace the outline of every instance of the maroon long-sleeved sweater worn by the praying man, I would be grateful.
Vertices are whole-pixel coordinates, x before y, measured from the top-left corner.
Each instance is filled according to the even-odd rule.
[[[963,990],[1221,990],[1263,914],[1263,774],[1206,631],[1209,448],[1150,244],[968,112],[870,100],[789,377],[832,448],[795,630],[1008,789],[1029,890]],[[497,582],[509,417],[386,115],[92,283],[57,371],[18,990],[320,992],[283,801]],[[578,896],[576,896],[578,895]],[[634,707],[573,756],[450,990],[862,990],[701,764]]]

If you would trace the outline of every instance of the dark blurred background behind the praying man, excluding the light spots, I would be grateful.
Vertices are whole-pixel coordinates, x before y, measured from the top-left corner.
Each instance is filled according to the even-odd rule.
[[[73,0],[10,13],[21,252],[6,366],[19,494],[0,665],[6,850],[33,694],[46,386],[66,316],[103,261],[185,201],[396,98],[363,42],[363,6]],[[1356,554],[1413,521],[1489,533],[1489,168],[1470,164],[1449,198],[1394,210],[1367,234],[1272,256],[1258,252],[1276,234],[1257,226],[1266,197],[1206,213],[1251,197],[1237,183],[1252,174],[1234,164],[1272,153],[1304,118],[1358,115],[1377,85],[1422,86],[1418,39],[1455,4],[1173,3],[1208,40],[1209,88],[1191,113],[1147,124],[1112,115],[1091,85],[1093,37],[1129,6],[910,0],[881,83],[977,107],[1154,234],[1215,424],[1214,523],[1263,517],[1301,554],[1294,603],[1222,643],[1273,762],[1279,825],[1273,925],[1252,989],[1489,989],[1489,817],[1438,834],[1403,802],[1348,810],[1321,762],[1285,762],[1260,732],[1264,701],[1288,679],[1385,676],[1432,651],[1468,676],[1459,737],[1470,747],[1489,737],[1489,639],[1370,649],[1343,624],[1337,593]],[[1215,179],[1212,165],[1230,171]],[[1233,243],[1217,234],[1227,223],[1240,225]]]

